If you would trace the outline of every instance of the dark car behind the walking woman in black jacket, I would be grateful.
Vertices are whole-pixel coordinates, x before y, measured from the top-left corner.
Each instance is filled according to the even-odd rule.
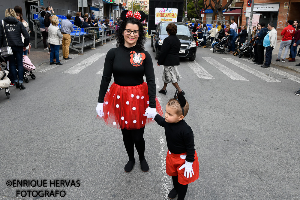
[[[190,29],[187,27],[186,23],[183,22],[160,22],[158,23],[154,36],[151,39],[152,51],[155,52],[155,59],[158,59],[159,53],[161,52],[161,45],[164,42],[164,39],[168,37],[166,27],[169,23],[174,23],[177,26],[176,36],[181,42],[180,46],[180,57],[189,58],[190,60],[196,59],[196,42],[193,39],[193,35]],[[196,35],[196,34],[195,34]]]

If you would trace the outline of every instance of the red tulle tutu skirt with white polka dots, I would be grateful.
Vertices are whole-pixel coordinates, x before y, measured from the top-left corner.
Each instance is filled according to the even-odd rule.
[[[155,97],[156,112],[163,116],[163,109]],[[137,86],[120,86],[113,83],[108,89],[103,102],[104,120],[107,126],[117,129],[140,129],[154,122],[147,118],[146,108],[149,106],[148,86],[142,83]]]

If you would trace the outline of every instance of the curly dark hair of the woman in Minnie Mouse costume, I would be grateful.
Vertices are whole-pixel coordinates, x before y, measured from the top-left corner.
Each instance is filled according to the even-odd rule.
[[[140,31],[140,37],[137,39],[137,49],[142,51],[145,50],[145,44],[147,41],[146,38],[146,34],[144,32],[144,27],[143,24],[140,22],[140,20],[134,18],[134,17],[128,17],[126,18],[126,20],[122,21],[119,28],[116,30],[116,41],[117,47],[121,47],[124,43],[124,36],[123,36],[123,32],[126,29],[127,24],[136,24],[137,26],[139,26],[139,31]]]

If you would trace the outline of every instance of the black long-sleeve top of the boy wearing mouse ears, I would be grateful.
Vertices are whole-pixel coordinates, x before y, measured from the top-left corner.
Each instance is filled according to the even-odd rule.
[[[194,162],[195,160],[195,143],[194,133],[184,120],[177,123],[168,123],[157,114],[154,118],[158,125],[165,128],[167,146],[171,153],[187,153],[185,160]]]

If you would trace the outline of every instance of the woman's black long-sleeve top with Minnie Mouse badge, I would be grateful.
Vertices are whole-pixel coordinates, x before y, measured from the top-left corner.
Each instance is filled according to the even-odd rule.
[[[134,58],[142,58],[142,61],[134,63]],[[150,54],[147,51],[139,51],[136,46],[128,48],[122,45],[121,47],[112,48],[107,52],[99,90],[99,103],[104,102],[104,96],[110,84],[112,74],[115,83],[120,86],[140,85],[144,82],[145,75],[148,86],[149,107],[156,107],[156,86],[153,62]]]

